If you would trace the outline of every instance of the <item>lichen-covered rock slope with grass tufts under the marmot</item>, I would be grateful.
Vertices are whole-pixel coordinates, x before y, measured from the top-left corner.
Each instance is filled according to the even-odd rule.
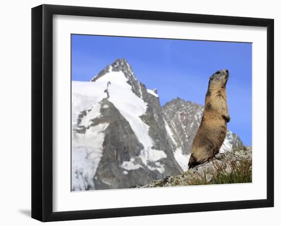
[[[154,180],[143,186],[133,185],[130,188],[218,184],[216,181],[222,184],[224,182],[231,183],[231,180],[233,180],[233,183],[251,182],[251,162],[252,148],[247,146],[229,152],[219,153],[214,159],[175,177],[170,176],[161,180]],[[237,175],[235,172],[237,172]],[[229,178],[222,180],[222,175],[223,177],[227,176]],[[245,181],[243,181],[243,178],[245,178]]]

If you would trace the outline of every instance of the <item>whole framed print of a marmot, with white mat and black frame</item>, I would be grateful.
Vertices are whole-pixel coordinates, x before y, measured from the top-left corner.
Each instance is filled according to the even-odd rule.
[[[273,207],[273,19],[32,9],[32,217]]]

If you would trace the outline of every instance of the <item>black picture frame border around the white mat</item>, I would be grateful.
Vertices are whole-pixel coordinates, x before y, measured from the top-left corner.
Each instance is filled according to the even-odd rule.
[[[200,204],[53,212],[53,15],[232,24],[267,28],[267,198]],[[274,206],[274,20],[172,12],[40,5],[32,8],[32,218],[77,220]]]

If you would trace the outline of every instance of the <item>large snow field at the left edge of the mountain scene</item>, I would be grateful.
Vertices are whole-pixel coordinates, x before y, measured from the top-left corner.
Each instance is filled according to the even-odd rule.
[[[72,190],[75,191],[95,187],[93,178],[102,158],[103,132],[109,124],[95,127],[90,124],[101,116],[100,102],[106,98],[105,88],[106,84],[72,82]],[[83,117],[79,119],[81,114]],[[81,127],[87,128],[85,133],[75,132]]]

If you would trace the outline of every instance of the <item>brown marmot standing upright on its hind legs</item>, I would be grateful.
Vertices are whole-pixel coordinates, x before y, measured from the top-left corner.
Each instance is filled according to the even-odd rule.
[[[226,123],[230,121],[226,103],[228,70],[223,69],[209,78],[201,124],[193,140],[189,168],[213,158],[223,144]]]

